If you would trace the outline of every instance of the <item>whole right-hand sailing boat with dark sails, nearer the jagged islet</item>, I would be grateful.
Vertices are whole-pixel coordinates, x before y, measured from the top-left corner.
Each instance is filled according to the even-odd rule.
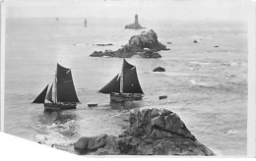
[[[98,92],[109,93],[111,101],[140,100],[144,96],[138,80],[136,67],[123,59],[121,73],[110,80]]]

